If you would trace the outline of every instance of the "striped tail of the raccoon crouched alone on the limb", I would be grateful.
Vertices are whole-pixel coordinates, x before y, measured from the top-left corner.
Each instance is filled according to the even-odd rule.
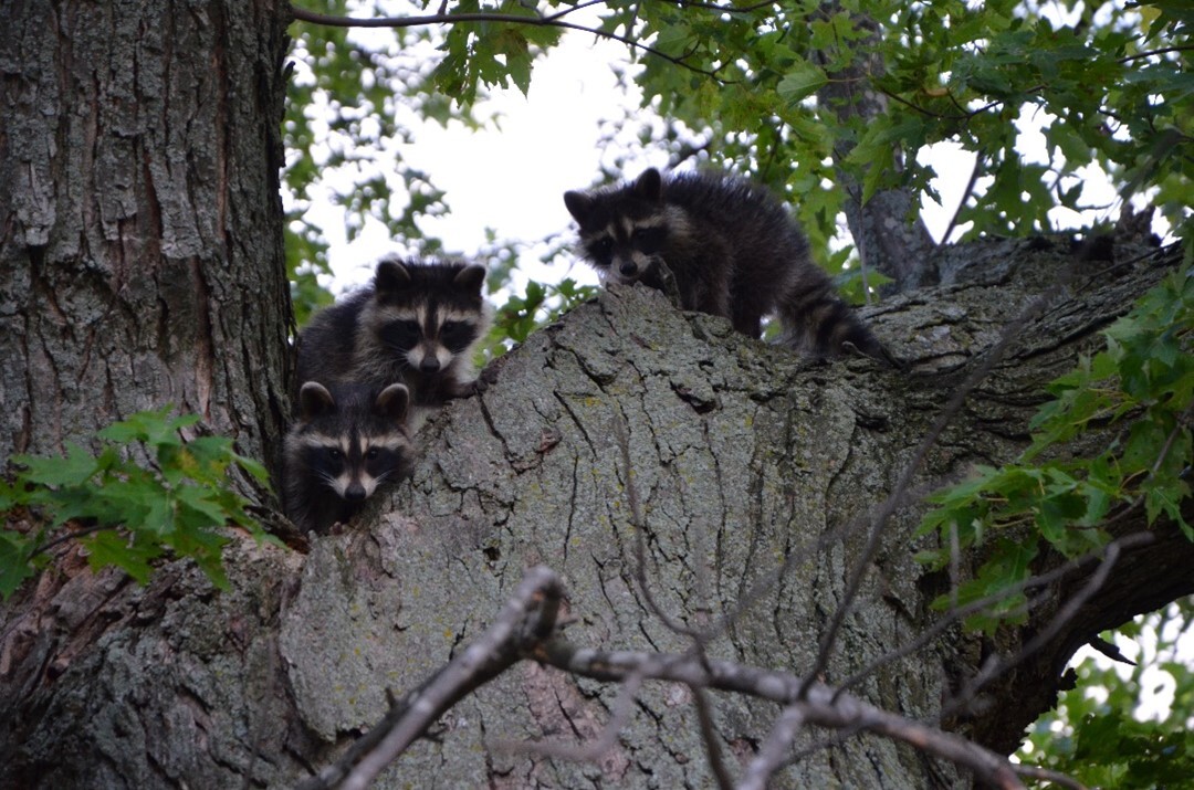
[[[837,357],[853,347],[880,362],[893,363],[870,329],[833,292],[827,278],[811,290],[790,289],[780,298],[777,311],[783,326],[780,342],[802,354]]]

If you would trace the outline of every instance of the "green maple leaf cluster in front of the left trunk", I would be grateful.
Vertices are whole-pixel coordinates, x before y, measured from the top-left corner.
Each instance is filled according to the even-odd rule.
[[[180,431],[199,418],[171,411],[139,412],[101,430],[98,453],[68,443],[62,457],[11,458],[8,480],[0,480],[0,597],[69,539],[96,570],[116,566],[144,584],[153,561],[171,553],[195,560],[214,585],[228,587],[221,549],[229,538],[221,527],[233,524],[267,539],[248,501],[229,487],[229,468],[263,486],[269,473],[226,437],[184,439]]]

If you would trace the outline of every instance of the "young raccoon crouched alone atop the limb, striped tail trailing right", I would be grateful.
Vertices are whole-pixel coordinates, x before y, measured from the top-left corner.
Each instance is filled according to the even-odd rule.
[[[731,175],[651,168],[632,184],[564,193],[580,226],[584,257],[604,282],[666,290],[671,271],[681,305],[727,317],[752,338],[776,313],[783,342],[817,357],[851,344],[882,347],[808,257],[808,241],[784,206],[762,187]]]

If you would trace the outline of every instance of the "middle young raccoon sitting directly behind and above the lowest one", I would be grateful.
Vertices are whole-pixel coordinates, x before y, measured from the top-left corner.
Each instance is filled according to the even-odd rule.
[[[411,389],[414,419],[476,391],[473,348],[490,326],[485,267],[463,263],[377,264],[370,288],[312,319],[298,347],[298,381]]]

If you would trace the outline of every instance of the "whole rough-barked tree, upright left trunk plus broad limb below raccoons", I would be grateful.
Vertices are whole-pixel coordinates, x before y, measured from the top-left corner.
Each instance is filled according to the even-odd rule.
[[[172,400],[242,451],[272,456],[288,376],[284,16],[263,0],[5,7],[6,453],[85,442]],[[896,513],[873,555],[869,513],[952,389],[1058,271],[1057,254],[1024,245],[958,254],[978,279],[872,314],[910,372],[804,363],[659,294],[615,290],[504,358],[482,396],[447,408],[421,434],[413,480],[344,532],[303,554],[234,542],[229,592],[186,562],[137,587],[90,573],[64,548],[0,606],[0,785],[291,786],[382,716],[387,689],[414,687],[479,635],[538,563],[564,575],[577,644],[687,649],[664,615],[714,629],[710,658],[798,675],[817,666],[861,567],[817,674],[841,683],[878,661],[851,691],[934,721],[986,655],[1018,652],[1082,584],[1059,581],[1052,603],[993,643],[952,628],[885,659],[940,617],[928,601],[942,580],[912,561],[919,505]],[[913,487],[1014,457],[1044,383],[1162,269],[1083,282],[1029,322]],[[1051,699],[1073,646],[1189,592],[1190,543],[1170,539],[1169,525],[1156,533],[1046,649],[987,687],[981,717],[950,724],[1008,748]],[[658,683],[628,704],[621,695],[519,664],[444,716],[378,786],[708,786],[691,691]],[[713,740],[733,772],[767,737],[775,705],[712,699]],[[517,747],[591,742],[622,709],[626,727],[596,761]],[[807,753],[775,786],[966,780],[878,736],[810,732],[798,746]]]

